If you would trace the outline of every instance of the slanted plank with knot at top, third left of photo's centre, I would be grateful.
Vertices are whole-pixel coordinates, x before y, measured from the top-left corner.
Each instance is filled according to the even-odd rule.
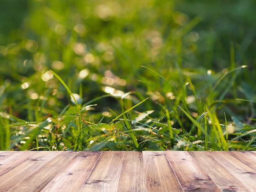
[[[100,155],[101,152],[79,152],[41,191],[80,191]]]

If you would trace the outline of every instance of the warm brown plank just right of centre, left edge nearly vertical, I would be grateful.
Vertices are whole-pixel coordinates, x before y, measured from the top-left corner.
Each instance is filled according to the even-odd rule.
[[[143,151],[142,154],[148,192],[183,191],[164,152]]]

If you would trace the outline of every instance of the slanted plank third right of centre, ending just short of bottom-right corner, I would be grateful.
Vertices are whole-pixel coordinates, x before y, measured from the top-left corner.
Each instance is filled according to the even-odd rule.
[[[233,174],[220,165],[209,152],[190,151],[189,154],[200,164],[200,167],[204,169],[222,191],[250,191]]]

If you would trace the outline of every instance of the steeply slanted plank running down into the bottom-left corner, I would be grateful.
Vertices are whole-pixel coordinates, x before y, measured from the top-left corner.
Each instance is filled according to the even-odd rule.
[[[40,167],[51,161],[59,153],[58,151],[54,153],[49,151],[34,152],[34,155],[30,156],[29,159],[0,175],[0,191],[11,190],[29,175],[40,169]],[[25,153],[20,153],[20,156],[23,154]]]

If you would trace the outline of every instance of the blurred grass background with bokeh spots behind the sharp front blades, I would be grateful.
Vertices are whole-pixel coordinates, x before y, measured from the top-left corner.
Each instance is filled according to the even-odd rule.
[[[192,99],[189,110],[198,117],[217,80],[247,65],[220,83],[211,105],[220,99],[221,123],[225,111],[230,122],[232,116],[254,125],[255,6],[254,0],[1,0],[0,111],[28,122],[57,117],[72,102],[52,70],[83,104],[97,104],[84,115],[86,121],[98,123],[102,116],[105,123],[112,121],[108,107],[121,113],[115,97],[91,101],[127,92],[135,92],[124,103],[127,109],[150,97],[136,110],[155,110],[152,118],[160,118],[166,100],[138,80],[158,87],[176,107],[177,89]],[[191,87],[184,91],[187,81],[196,96]],[[74,110],[69,108],[66,116]],[[184,120],[184,134],[191,126]]]

